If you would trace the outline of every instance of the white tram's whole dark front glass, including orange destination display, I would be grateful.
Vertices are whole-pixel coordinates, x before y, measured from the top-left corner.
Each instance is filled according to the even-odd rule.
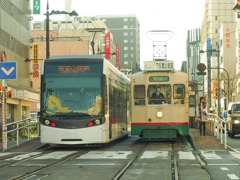
[[[46,116],[100,116],[102,66],[81,62],[47,62],[42,80]]]

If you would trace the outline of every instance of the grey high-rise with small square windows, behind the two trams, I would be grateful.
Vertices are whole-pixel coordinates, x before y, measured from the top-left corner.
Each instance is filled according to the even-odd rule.
[[[140,70],[140,24],[135,15],[95,16],[107,25],[120,45],[120,70]]]

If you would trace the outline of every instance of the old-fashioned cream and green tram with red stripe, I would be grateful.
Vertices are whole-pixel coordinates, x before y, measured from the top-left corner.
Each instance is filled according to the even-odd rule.
[[[131,77],[131,134],[143,140],[189,135],[188,76],[168,61],[149,62]]]

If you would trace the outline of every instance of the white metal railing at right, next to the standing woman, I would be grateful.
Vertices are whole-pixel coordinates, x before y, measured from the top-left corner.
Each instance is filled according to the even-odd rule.
[[[224,148],[227,149],[227,122],[216,114],[208,113],[207,116],[206,131],[216,136],[218,140],[221,137],[221,144],[224,144]]]

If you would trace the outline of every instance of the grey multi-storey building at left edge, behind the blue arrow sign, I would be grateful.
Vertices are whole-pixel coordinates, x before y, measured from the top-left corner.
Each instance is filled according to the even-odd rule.
[[[39,101],[39,94],[32,88],[30,71],[24,62],[29,56],[30,14],[28,0],[0,2],[0,49],[1,55],[6,57],[1,61],[16,62],[16,79],[5,80],[2,84],[6,93],[12,93],[6,99],[6,123],[28,118],[31,111],[37,111],[32,106]]]

